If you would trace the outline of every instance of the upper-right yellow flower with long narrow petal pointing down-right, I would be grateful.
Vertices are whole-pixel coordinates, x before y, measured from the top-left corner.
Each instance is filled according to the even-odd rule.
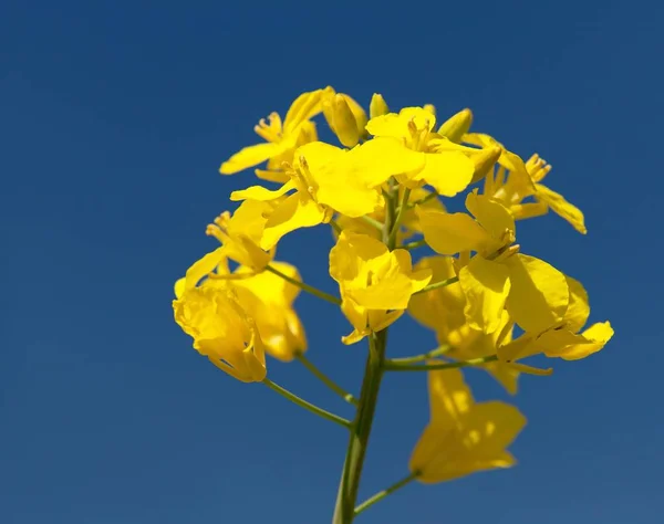
[[[487,139],[475,142],[486,144]],[[577,231],[585,234],[588,230],[581,210],[568,202],[562,195],[540,184],[551,171],[551,165],[538,155],[532,155],[526,164],[517,159],[513,155],[511,161],[499,160],[496,172],[491,170],[485,179],[484,193],[500,200],[517,220],[539,217],[552,209]],[[535,201],[523,202],[529,197]]]

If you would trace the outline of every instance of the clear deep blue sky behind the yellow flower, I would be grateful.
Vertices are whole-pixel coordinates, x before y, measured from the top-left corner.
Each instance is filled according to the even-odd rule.
[[[222,7],[227,6],[227,7]],[[331,84],[367,104],[474,109],[476,129],[554,166],[587,216],[521,222],[520,243],[580,279],[599,355],[526,377],[520,464],[412,485],[357,523],[657,522],[664,465],[660,271],[664,40],[656,2],[116,2],[0,7],[4,307],[3,524],[326,523],[342,429],[198,356],[172,285],[251,175],[219,164],[256,120]],[[280,247],[332,291],[328,231]],[[310,357],[349,388],[364,347],[301,296]],[[393,355],[433,347],[405,322]],[[297,365],[273,380],[340,413]],[[479,399],[502,398],[481,371]],[[405,473],[427,421],[423,376],[388,376],[362,484]]]

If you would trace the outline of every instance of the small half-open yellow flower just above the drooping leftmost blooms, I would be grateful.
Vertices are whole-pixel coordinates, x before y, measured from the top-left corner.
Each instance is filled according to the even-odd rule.
[[[206,234],[215,237],[224,245],[224,254],[255,272],[264,270],[274,258],[274,250],[260,249],[260,240],[272,211],[272,202],[247,200],[232,213],[225,211],[207,227]]]

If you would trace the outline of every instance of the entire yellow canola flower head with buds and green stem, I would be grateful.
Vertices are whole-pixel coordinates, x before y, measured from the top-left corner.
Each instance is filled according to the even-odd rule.
[[[234,191],[230,200],[239,206],[207,226],[219,244],[177,280],[173,301],[176,323],[217,368],[261,382],[349,431],[333,524],[354,522],[413,482],[516,464],[509,447],[526,417],[510,404],[476,401],[464,368],[481,368],[517,395],[521,374],[552,373],[523,359],[585,358],[613,336],[609,322],[584,327],[590,302],[578,280],[526,254],[527,240],[525,252],[516,243],[517,221],[549,210],[587,233],[583,213],[542,184],[548,163],[539,155],[523,161],[492,136],[471,130],[467,108],[440,122],[430,104],[391,111],[380,94],[367,108],[326,86],[298,96],[283,120],[276,112],[261,119],[255,130],[264,142],[220,168],[222,175],[255,168],[261,181]],[[332,143],[320,139],[317,118]],[[446,199],[464,193],[467,212],[448,212]],[[283,237],[314,227],[329,228],[334,238],[322,273],[338,294],[276,260]],[[329,335],[366,354],[359,394],[309,359],[295,305],[301,292],[346,318],[350,332]],[[388,354],[387,332],[406,313],[434,332],[437,348]],[[354,416],[340,417],[272,381],[270,357],[300,364]],[[427,375],[429,421],[404,478],[359,502],[381,384],[398,373]]]

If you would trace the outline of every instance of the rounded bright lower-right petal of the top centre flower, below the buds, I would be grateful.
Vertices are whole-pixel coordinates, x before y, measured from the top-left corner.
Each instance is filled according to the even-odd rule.
[[[475,166],[463,153],[426,153],[424,156],[424,168],[413,179],[425,180],[438,195],[454,197],[470,184]]]

